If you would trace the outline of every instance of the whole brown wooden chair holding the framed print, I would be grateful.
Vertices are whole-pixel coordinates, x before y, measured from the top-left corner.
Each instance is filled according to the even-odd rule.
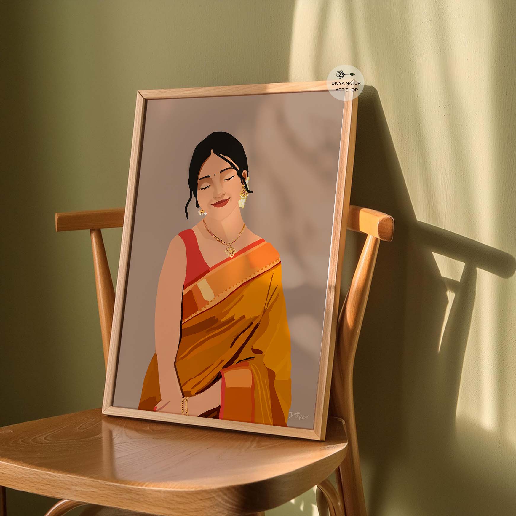
[[[107,361],[115,292],[101,229],[124,209],[56,214],[56,231],[89,229]],[[96,504],[163,515],[263,514],[317,485],[331,516],[365,516],[353,409],[353,360],[380,240],[392,217],[350,207],[348,227],[366,233],[341,309],[323,442],[150,422],[100,409],[0,429],[0,485],[63,498],[47,516]],[[335,472],[337,489],[328,479]],[[0,516],[6,516],[5,488]],[[134,512],[131,512],[134,514]]]

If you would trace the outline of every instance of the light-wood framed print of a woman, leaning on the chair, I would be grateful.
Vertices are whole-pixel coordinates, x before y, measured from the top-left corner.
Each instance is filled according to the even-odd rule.
[[[138,91],[104,414],[325,439],[357,101]]]

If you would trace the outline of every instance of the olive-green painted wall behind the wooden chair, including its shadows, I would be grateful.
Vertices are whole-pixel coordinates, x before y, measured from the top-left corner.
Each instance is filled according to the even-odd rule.
[[[349,63],[352,202],[396,219],[356,361],[369,514],[516,513],[515,21],[511,0],[2,2],[0,426],[101,404],[88,234],[53,214],[123,205],[136,90]]]

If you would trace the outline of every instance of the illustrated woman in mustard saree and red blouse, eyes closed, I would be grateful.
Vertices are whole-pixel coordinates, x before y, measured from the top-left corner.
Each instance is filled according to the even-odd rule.
[[[215,132],[193,151],[188,185],[203,219],[170,242],[159,276],[156,352],[140,410],[287,425],[291,342],[278,251],[241,216],[247,156]]]

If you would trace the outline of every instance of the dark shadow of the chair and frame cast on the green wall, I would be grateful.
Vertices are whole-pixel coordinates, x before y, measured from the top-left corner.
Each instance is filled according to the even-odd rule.
[[[477,270],[509,278],[516,261],[416,220],[378,92],[370,86],[359,99],[351,203],[395,220],[394,240],[380,246],[354,367],[369,516],[388,509],[385,494],[393,481],[404,482],[398,510],[406,505],[406,514],[414,507],[420,515],[516,513],[516,491],[500,481],[504,470],[497,478],[468,454],[496,447],[496,436],[478,427],[465,450],[456,433]],[[457,279],[442,277],[443,256],[463,263]],[[508,449],[509,463],[515,459]]]

